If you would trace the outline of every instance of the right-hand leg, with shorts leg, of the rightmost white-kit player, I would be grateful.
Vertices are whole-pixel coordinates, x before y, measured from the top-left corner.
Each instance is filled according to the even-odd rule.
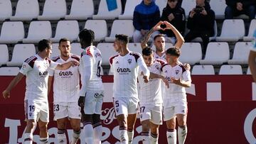
[[[186,118],[187,118],[187,106],[184,104],[183,106],[176,106],[177,111],[177,121],[178,121],[178,143],[185,143],[186,135],[188,133],[188,129],[186,126]]]

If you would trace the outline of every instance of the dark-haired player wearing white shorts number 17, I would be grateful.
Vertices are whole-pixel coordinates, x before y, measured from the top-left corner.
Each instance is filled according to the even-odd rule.
[[[162,97],[161,80],[169,87],[169,82],[161,75],[162,60],[154,60],[154,51],[151,48],[142,50],[142,57],[150,71],[149,82],[145,83],[139,75],[139,107],[142,123],[142,143],[153,144],[158,142],[159,125],[162,124]],[[149,128],[151,134],[149,136]]]

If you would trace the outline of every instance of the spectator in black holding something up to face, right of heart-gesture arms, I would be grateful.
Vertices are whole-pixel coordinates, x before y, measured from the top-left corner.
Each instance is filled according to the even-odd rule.
[[[186,42],[201,37],[203,40],[203,54],[209,43],[209,37],[214,35],[215,13],[210,9],[206,0],[196,0],[196,8],[193,8],[188,15],[187,28],[190,30],[185,36]]]

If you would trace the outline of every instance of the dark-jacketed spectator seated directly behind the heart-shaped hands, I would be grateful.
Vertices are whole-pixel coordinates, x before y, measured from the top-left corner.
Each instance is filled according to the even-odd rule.
[[[161,21],[168,21],[171,23],[178,31],[183,34],[185,31],[186,16],[185,11],[181,6],[178,6],[178,0],[168,0],[166,7],[163,10]],[[175,44],[176,37],[174,32],[171,30],[160,31],[166,34],[169,38],[166,41]]]

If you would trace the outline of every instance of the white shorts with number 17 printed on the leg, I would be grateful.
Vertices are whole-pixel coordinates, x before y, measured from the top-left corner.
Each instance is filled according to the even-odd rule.
[[[162,106],[139,105],[139,107],[139,118],[141,122],[149,119],[151,123],[156,125],[163,124]]]

